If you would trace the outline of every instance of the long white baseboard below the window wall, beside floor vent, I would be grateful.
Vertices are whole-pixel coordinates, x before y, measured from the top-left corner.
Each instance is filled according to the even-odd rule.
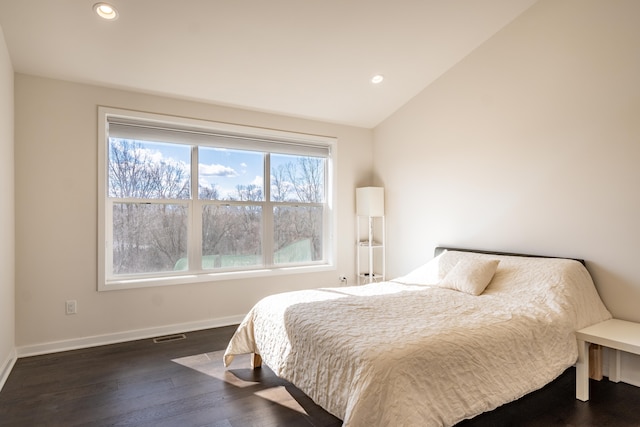
[[[70,340],[52,341],[43,344],[25,345],[22,347],[18,347],[16,353],[17,357],[28,357],[37,356],[40,354],[58,353],[68,350],[77,350],[80,348],[97,347],[106,344],[116,344],[126,341],[154,338],[163,335],[236,325],[240,323],[243,318],[244,315],[229,316],[218,319],[203,320],[199,322],[180,323],[175,325],[159,326],[156,328],[137,329],[133,331],[116,332],[113,334],[94,335],[89,337],[74,338]]]

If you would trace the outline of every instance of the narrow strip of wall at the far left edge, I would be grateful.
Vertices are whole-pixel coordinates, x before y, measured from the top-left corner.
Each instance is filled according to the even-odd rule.
[[[0,389],[15,361],[13,66],[0,28]]]

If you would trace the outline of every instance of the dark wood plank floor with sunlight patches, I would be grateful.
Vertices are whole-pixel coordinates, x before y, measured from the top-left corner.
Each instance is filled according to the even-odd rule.
[[[114,344],[18,360],[0,392],[1,426],[340,426],[269,368],[222,354],[234,327],[180,341]],[[640,388],[591,382],[575,399],[575,371],[547,387],[459,424],[640,426]]]

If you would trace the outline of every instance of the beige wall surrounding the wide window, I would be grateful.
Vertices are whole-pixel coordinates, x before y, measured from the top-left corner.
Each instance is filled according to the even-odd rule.
[[[369,182],[371,130],[21,74],[15,97],[20,354],[224,324],[268,294],[353,277],[354,189]],[[98,293],[98,105],[337,137],[337,271]],[[67,299],[77,315],[65,315]]]

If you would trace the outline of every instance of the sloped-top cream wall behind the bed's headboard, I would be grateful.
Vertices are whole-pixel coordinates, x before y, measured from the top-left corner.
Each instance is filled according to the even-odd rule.
[[[580,257],[640,321],[638,16],[541,0],[375,129],[391,275],[438,244]]]

